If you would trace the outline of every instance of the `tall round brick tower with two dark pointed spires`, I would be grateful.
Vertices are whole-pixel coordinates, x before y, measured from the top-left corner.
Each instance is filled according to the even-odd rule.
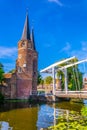
[[[18,42],[18,59],[16,61],[16,95],[19,99],[28,99],[37,91],[38,54],[35,48],[34,31],[29,30],[28,14],[24,24],[21,40]]]

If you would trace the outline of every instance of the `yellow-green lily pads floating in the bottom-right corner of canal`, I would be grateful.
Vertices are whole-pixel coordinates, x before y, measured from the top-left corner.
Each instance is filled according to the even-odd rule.
[[[71,111],[67,115],[58,117],[58,124],[51,126],[49,130],[87,130],[87,107],[83,107],[81,113]]]

